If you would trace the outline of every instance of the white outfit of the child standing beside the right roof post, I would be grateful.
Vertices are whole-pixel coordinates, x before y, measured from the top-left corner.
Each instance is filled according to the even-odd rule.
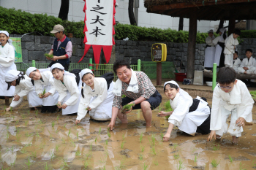
[[[233,66],[233,53],[235,53],[236,45],[239,45],[238,40],[234,39],[233,34],[231,34],[225,40],[225,66]]]

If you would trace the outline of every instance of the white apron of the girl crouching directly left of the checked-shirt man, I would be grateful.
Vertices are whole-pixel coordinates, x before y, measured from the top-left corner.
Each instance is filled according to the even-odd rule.
[[[110,120],[112,117],[112,104],[114,96],[112,91],[114,87],[114,82],[111,82],[110,87],[108,89],[108,97],[105,98],[105,100],[99,104],[98,107],[95,109],[91,109],[89,112],[90,116],[94,120]],[[94,99],[97,97],[91,98],[91,102],[94,101]]]

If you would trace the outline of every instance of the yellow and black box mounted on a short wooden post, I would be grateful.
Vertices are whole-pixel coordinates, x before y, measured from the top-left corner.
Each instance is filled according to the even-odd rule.
[[[167,47],[164,43],[155,43],[152,45],[151,58],[154,62],[166,61]]]

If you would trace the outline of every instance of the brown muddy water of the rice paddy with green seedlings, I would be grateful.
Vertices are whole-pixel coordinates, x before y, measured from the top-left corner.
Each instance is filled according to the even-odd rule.
[[[256,169],[255,107],[254,122],[233,145],[228,134],[221,142],[207,143],[207,135],[189,136],[178,128],[170,142],[162,142],[168,123],[156,116],[158,108],[151,128],[136,110],[128,115],[128,125],[118,121],[108,132],[109,122],[86,117],[75,125],[75,116],[30,111],[27,101],[12,112],[4,112],[3,101],[0,106],[0,169]]]

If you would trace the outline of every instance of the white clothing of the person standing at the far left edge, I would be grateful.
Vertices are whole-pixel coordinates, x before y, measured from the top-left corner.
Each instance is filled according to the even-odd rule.
[[[15,50],[9,43],[0,47],[0,96],[14,96],[15,86],[11,86],[9,90],[8,84],[4,80],[4,76],[9,70],[17,70],[15,61]]]

